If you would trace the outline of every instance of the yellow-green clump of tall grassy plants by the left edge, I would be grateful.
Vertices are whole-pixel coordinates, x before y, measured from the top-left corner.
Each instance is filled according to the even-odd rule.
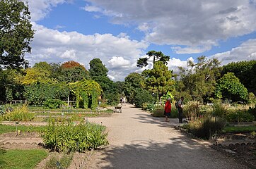
[[[13,108],[13,111],[8,111],[0,117],[2,120],[8,121],[31,121],[35,118],[33,113],[28,113],[27,105]]]

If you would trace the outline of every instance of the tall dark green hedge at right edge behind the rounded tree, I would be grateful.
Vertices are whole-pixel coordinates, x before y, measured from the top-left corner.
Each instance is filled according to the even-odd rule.
[[[248,89],[248,92],[256,94],[256,61],[240,61],[228,63],[223,66],[222,75],[226,73],[234,73],[240,82]]]

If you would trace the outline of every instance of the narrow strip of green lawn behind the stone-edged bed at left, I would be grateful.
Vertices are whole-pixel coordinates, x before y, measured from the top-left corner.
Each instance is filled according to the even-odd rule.
[[[18,125],[18,130],[21,130],[21,132],[40,132],[42,130],[45,130],[45,128],[45,126]],[[15,125],[0,125],[0,134],[15,131]]]

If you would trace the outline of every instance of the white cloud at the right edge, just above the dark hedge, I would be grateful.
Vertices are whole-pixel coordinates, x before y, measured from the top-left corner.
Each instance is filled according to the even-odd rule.
[[[256,60],[256,39],[249,39],[240,46],[219,54],[214,54],[210,58],[218,58],[222,65],[237,61]]]

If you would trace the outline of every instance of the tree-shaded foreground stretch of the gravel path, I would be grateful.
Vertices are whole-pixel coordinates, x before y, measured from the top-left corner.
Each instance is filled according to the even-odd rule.
[[[207,147],[185,136],[170,143],[137,140],[98,151],[91,168],[246,168]]]

